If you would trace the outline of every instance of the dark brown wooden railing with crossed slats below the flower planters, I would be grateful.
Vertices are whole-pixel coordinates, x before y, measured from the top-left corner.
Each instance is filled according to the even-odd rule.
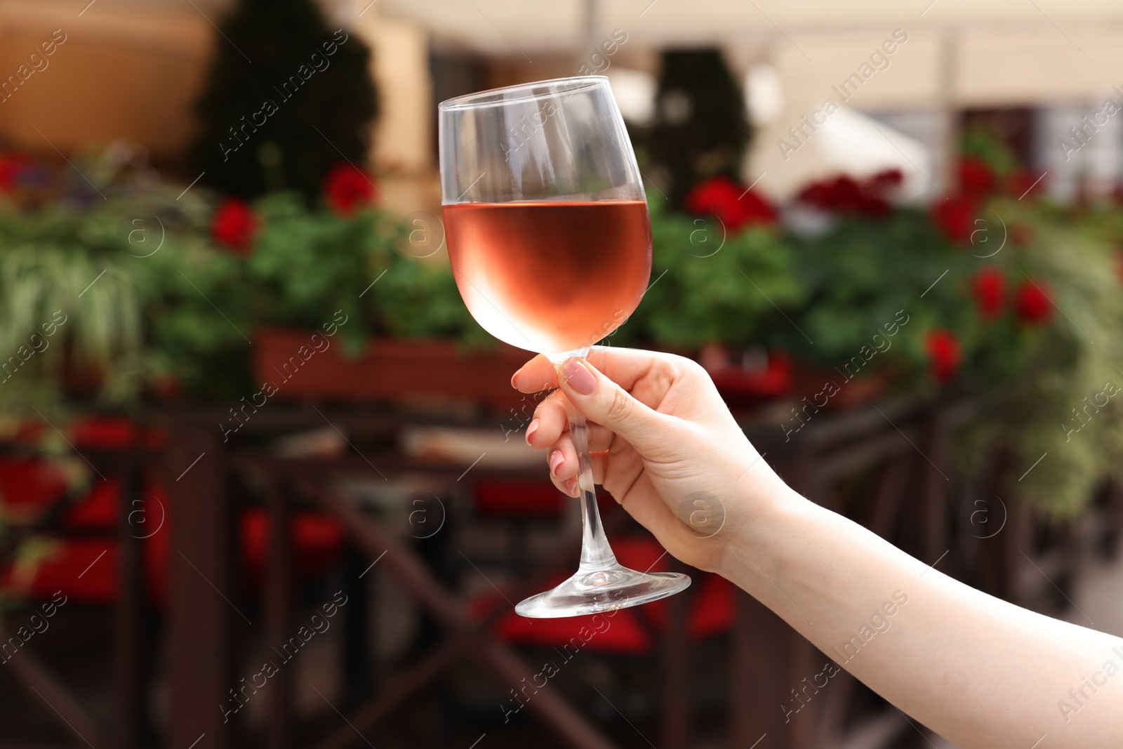
[[[135,528],[122,512],[119,545],[121,594],[116,603],[113,645],[113,688],[116,707],[112,724],[99,724],[89,711],[30,652],[20,654],[17,667],[9,670],[28,694],[38,694],[61,719],[60,724],[76,740],[93,746],[134,749],[150,743],[174,749],[190,749],[203,737],[208,747],[232,749],[244,745],[246,727],[241,716],[223,714],[220,705],[239,684],[235,668],[245,651],[250,633],[259,632],[266,642],[284,641],[294,625],[294,565],[289,527],[298,502],[313,502],[337,518],[345,527],[350,545],[365,561],[357,568],[377,563],[378,574],[393,576],[413,596],[442,632],[442,639],[426,652],[380,679],[374,694],[347,694],[339,705],[346,720],[327,733],[301,747],[343,749],[364,746],[360,734],[393,720],[403,707],[440,681],[463,659],[478,664],[495,679],[512,687],[533,670],[518,650],[496,639],[492,624],[506,608],[484,618],[469,613],[462,593],[441,581],[413,549],[358,505],[335,493],[330,478],[340,473],[374,471],[389,477],[424,471],[431,477],[444,476],[450,484],[463,466],[419,463],[401,455],[360,456],[349,454],[332,459],[282,459],[256,449],[250,441],[223,444],[214,428],[221,414],[200,410],[165,411],[156,414],[171,436],[158,454],[135,450],[115,456],[97,456],[103,472],[125,477],[122,502],[134,506],[144,502],[139,476],[145,465],[164,466],[170,490],[172,528],[170,548],[170,591],[164,636],[167,638],[170,714],[166,725],[154,727],[147,714],[152,688],[155,620],[146,602],[141,581],[143,560]],[[340,429],[392,435],[416,415],[387,409],[365,408],[321,412],[302,407],[277,404],[253,422],[259,433],[279,429],[320,426],[328,418]],[[767,460],[795,488],[809,499],[842,512],[901,546],[917,558],[937,565],[941,572],[960,577],[987,592],[1015,600],[1022,605],[1044,608],[1043,596],[1026,595],[1015,585],[1016,573],[1026,566],[1023,554],[1033,554],[1031,535],[1042,521],[1016,501],[1007,501],[1004,526],[993,536],[970,532],[965,524],[962,502],[971,496],[968,488],[988,491],[1003,481],[1001,451],[985,462],[979,476],[961,476],[948,459],[955,429],[971,418],[966,404],[937,402],[879,402],[867,408],[837,414],[820,414],[807,428],[785,440],[776,424],[752,418],[742,422],[746,432],[766,454]],[[441,418],[432,417],[435,422]],[[471,426],[474,419],[446,419]],[[378,466],[372,469],[373,463]],[[502,472],[501,472],[502,473]],[[518,472],[515,472],[518,474]],[[540,476],[545,469],[531,475]],[[511,475],[510,472],[504,475]],[[522,474],[520,474],[522,475]],[[248,627],[248,610],[239,595],[239,549],[235,533],[241,496],[239,482],[253,477],[264,486],[264,503],[271,519],[270,551],[265,565],[262,606],[255,618],[263,621]],[[264,484],[259,481],[264,477]],[[1123,493],[1105,490],[1104,515],[1110,518],[1105,535],[1119,533],[1123,524]],[[49,513],[48,513],[49,514]],[[57,511],[55,511],[57,514]],[[606,515],[610,532],[630,519],[623,513]],[[35,528],[49,531],[49,523]],[[1053,555],[1052,572],[1076,569],[1074,544],[1058,533],[1060,549]],[[510,600],[541,590],[551,575],[572,568],[576,557],[573,539],[557,548],[538,550],[536,563],[517,584],[505,590]],[[1066,550],[1069,549],[1069,550]],[[368,567],[367,567],[368,568]],[[1067,575],[1058,575],[1062,577]],[[351,575],[355,577],[355,575]],[[355,583],[356,581],[351,581]],[[348,584],[351,584],[348,583]],[[357,590],[357,588],[353,588]],[[1044,592],[1044,591],[1043,591]],[[668,600],[669,629],[659,637],[658,664],[661,686],[654,689],[659,704],[657,743],[660,749],[685,749],[694,736],[697,715],[692,683],[700,678],[692,670],[692,648],[685,636],[690,596]],[[345,615],[353,615],[347,612]],[[355,620],[362,624],[362,618]],[[353,622],[354,623],[354,622]],[[355,638],[350,638],[355,640]],[[359,640],[363,638],[359,637]],[[356,646],[357,647],[357,646]],[[801,706],[797,720],[786,720],[782,705],[791,701],[792,688],[804,677],[820,672],[828,656],[820,654],[770,611],[746,594],[738,593],[737,616],[728,636],[729,648],[729,746],[747,749],[763,737],[760,747],[842,746],[856,730],[875,723],[888,736],[909,731],[907,723],[888,706],[873,710],[876,697],[864,693],[860,684],[844,672],[833,676],[829,688]],[[357,655],[356,655],[357,652]],[[362,669],[366,656],[355,656],[351,670]],[[27,656],[27,657],[25,657]],[[351,674],[354,681],[355,674]],[[295,749],[296,713],[293,707],[293,674],[281,669],[270,679],[268,720],[265,743],[270,749]],[[341,683],[347,678],[340,677]],[[325,697],[327,698],[327,697]],[[859,710],[860,705],[865,705]],[[334,706],[335,707],[335,706]],[[544,730],[565,743],[582,749],[615,746],[596,723],[582,714],[553,685],[540,689],[529,703]],[[855,712],[859,714],[856,719]],[[862,713],[862,711],[865,711]],[[858,727],[858,729],[855,728]]]

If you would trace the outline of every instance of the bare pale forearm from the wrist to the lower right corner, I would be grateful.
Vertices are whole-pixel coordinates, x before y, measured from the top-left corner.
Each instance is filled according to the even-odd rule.
[[[729,542],[720,572],[965,749],[1123,734],[1123,640],[980,593],[794,493]]]

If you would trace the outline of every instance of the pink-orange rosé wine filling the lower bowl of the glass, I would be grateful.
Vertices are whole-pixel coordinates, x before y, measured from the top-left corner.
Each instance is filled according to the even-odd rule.
[[[592,346],[636,310],[651,273],[640,200],[457,203],[444,216],[464,303],[519,348]]]

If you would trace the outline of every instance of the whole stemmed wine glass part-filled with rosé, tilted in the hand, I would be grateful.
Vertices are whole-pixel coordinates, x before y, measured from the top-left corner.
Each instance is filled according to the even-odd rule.
[[[439,106],[439,143],[448,255],[468,311],[491,335],[556,366],[586,356],[636,310],[651,273],[643,183],[609,80],[449,99]],[[515,612],[575,616],[686,588],[686,575],[617,561],[596,506],[585,419],[568,401],[566,411],[581,464],[581,565]]]

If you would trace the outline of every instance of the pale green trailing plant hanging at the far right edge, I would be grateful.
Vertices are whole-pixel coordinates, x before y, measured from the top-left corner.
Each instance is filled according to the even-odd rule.
[[[975,439],[1013,445],[1023,469],[1048,454],[1017,493],[1070,515],[1104,477],[1123,477],[1123,399],[1111,396],[1112,386],[1123,389],[1123,223],[1114,200],[1061,207],[1004,199],[992,208],[1032,235],[994,259],[1011,277],[1047,280],[1059,313],[1032,330],[975,323],[977,362],[962,384],[984,408]],[[1097,398],[1105,389],[1106,405]]]

